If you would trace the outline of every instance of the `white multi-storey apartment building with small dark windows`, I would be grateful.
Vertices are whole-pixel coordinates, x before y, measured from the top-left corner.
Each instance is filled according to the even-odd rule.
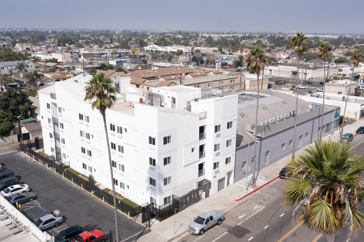
[[[90,78],[39,90],[44,151],[111,187],[103,119],[83,101]],[[106,121],[118,193],[162,205],[199,182],[210,182],[210,195],[233,183],[237,95],[202,100],[200,88],[172,86],[143,97],[129,77],[115,79],[115,86],[121,94]]]

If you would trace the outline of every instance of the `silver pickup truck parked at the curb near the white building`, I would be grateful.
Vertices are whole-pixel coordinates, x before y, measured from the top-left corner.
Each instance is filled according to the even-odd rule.
[[[221,221],[225,219],[223,212],[212,210],[199,214],[195,220],[188,225],[188,231],[194,235],[202,235],[207,229],[215,224],[221,225]]]

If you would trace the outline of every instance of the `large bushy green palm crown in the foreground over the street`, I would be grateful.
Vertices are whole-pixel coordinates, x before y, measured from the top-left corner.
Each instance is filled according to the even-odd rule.
[[[305,153],[286,166],[290,178],[284,183],[285,206],[301,207],[298,218],[310,230],[320,231],[327,241],[347,226],[349,234],[363,230],[364,214],[358,210],[363,201],[361,187],[363,158],[349,144],[315,140]],[[306,206],[302,206],[306,204]]]

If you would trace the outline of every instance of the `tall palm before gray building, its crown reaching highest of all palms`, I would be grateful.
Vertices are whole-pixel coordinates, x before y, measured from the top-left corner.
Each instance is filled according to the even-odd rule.
[[[297,86],[298,81],[300,79],[300,75],[298,72],[298,67],[300,66],[300,58],[302,56],[302,53],[306,51],[306,46],[308,46],[308,40],[305,35],[302,35],[302,32],[297,32],[296,36],[293,36],[289,47],[290,49],[294,49],[293,53],[298,55],[298,61],[297,61]],[[302,69],[303,72],[303,69]],[[296,150],[296,129],[297,129],[297,110],[298,110],[298,88],[296,91],[296,111],[294,115],[294,132],[293,132],[293,147],[292,147],[292,160],[294,160],[294,152]]]

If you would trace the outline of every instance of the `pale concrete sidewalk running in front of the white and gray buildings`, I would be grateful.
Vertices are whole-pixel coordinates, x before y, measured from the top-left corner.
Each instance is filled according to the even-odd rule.
[[[360,126],[364,126],[364,119],[352,122],[348,120],[347,125],[344,127],[344,133],[353,133]],[[354,137],[355,138],[355,137]],[[332,135],[327,135],[323,138],[323,140],[339,140],[340,139],[340,130],[335,131]],[[297,150],[296,155],[304,152],[304,148]],[[264,185],[265,183],[272,181],[276,178],[281,171],[282,167],[285,166],[286,162],[292,158],[292,155],[286,156],[279,161],[274,162],[272,165],[269,165],[259,172],[257,172],[257,187]],[[138,238],[136,241],[178,241],[181,237],[179,235],[187,235],[189,234],[187,231],[187,226],[190,222],[193,221],[194,217],[203,211],[210,211],[213,209],[226,211],[230,207],[236,205],[238,203],[235,199],[239,197],[243,197],[244,195],[254,191],[251,188],[250,182],[252,180],[252,175],[248,176],[248,189],[245,186],[245,179],[242,179],[234,184],[228,184],[225,189],[220,190],[218,193],[211,195],[210,197],[201,200],[190,207],[187,207],[185,210],[177,213],[174,216],[163,220],[162,222],[158,222],[155,219],[151,221],[150,231],[149,233],[143,235]],[[239,195],[239,197],[238,197]],[[244,199],[249,199],[249,195]],[[174,231],[174,221],[175,222],[175,231]]]

